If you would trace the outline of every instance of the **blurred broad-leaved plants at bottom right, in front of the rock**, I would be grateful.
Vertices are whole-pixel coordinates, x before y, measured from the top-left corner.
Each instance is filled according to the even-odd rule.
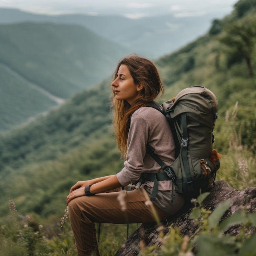
[[[209,193],[201,194],[193,200],[194,209],[190,218],[198,225],[198,232],[189,238],[182,237],[177,227],[170,227],[170,233],[164,236],[159,227],[159,244],[144,247],[141,241],[141,255],[151,256],[253,256],[256,254],[256,233],[251,232],[256,226],[256,213],[247,213],[247,207],[236,211],[232,216],[220,222],[221,217],[231,205],[226,201],[214,211],[204,209],[202,202]],[[249,205],[248,205],[249,207]],[[220,224],[219,224],[220,222]],[[238,236],[225,234],[230,226],[240,225]]]

